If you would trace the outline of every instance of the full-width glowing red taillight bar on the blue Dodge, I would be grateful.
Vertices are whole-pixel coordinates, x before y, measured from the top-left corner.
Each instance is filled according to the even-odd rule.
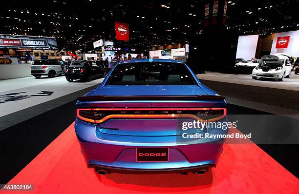
[[[111,118],[194,118],[216,121],[226,116],[226,108],[94,108],[77,109],[77,117],[92,123],[103,123]]]

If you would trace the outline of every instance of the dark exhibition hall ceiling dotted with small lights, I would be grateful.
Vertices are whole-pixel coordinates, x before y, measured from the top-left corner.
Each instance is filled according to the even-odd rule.
[[[55,36],[59,49],[93,49],[98,39],[115,40],[115,21],[129,24],[130,40],[119,45],[150,50],[209,33],[207,0],[31,0],[1,2],[0,34]],[[222,30],[241,35],[299,29],[299,0],[228,0]]]

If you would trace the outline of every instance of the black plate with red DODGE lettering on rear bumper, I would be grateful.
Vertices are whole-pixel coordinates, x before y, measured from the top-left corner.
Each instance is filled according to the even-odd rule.
[[[168,162],[168,148],[136,148],[137,162]]]

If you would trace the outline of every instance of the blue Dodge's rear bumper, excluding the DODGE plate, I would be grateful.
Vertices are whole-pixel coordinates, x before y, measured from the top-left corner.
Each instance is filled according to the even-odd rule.
[[[85,162],[91,168],[119,173],[187,172],[214,167],[225,139],[188,144],[176,136],[120,136],[103,134],[94,124],[76,119],[75,131]],[[227,133],[227,132],[225,132]],[[99,135],[100,134],[100,135]],[[169,148],[168,162],[137,162],[136,148]]]

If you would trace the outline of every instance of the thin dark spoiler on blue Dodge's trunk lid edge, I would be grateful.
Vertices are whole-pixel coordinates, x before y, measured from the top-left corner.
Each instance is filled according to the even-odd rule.
[[[122,100],[224,100],[222,96],[197,95],[197,96],[87,96],[78,97],[84,101],[122,101]]]

